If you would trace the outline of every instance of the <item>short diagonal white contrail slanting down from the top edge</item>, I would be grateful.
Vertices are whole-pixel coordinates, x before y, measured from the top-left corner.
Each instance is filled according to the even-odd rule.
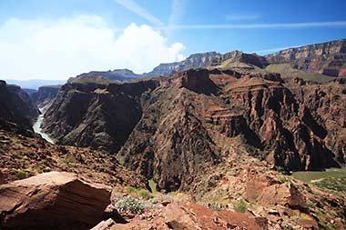
[[[162,23],[158,17],[155,15],[152,15],[148,10],[146,10],[144,7],[137,5],[132,0],[115,0],[119,5],[123,5],[127,10],[135,13],[138,16],[141,16],[142,18],[146,19],[149,23],[157,26],[164,26],[165,24]]]

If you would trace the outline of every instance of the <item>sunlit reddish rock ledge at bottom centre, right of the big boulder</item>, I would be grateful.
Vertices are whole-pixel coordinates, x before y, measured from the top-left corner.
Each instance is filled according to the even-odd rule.
[[[264,226],[265,227],[265,226]],[[249,229],[260,230],[255,218],[231,211],[215,211],[195,203],[171,203],[148,213],[135,216],[127,224],[117,224],[107,219],[92,230],[116,229]]]

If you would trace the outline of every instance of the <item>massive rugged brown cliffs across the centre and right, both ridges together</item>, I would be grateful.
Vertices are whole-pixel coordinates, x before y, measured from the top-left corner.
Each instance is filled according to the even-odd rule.
[[[240,138],[249,155],[290,170],[338,165],[328,130],[279,75],[213,73],[189,70],[162,80],[117,153],[120,161],[167,191],[193,184],[206,165],[218,165],[229,151],[221,153],[224,138]]]

